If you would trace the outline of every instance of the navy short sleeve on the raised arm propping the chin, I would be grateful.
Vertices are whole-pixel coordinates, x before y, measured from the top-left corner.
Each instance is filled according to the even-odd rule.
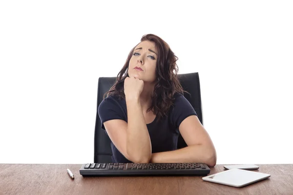
[[[113,97],[103,99],[99,105],[98,114],[101,120],[102,129],[104,130],[104,122],[108,120],[122,119],[126,121],[122,106],[119,104],[119,101]]]

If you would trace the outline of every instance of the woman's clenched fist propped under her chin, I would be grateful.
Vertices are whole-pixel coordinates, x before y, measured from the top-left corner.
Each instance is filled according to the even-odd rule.
[[[134,77],[124,80],[124,94],[127,99],[139,99],[144,89],[144,81]]]

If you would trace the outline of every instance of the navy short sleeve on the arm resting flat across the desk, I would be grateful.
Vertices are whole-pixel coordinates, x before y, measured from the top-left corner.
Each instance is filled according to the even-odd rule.
[[[197,116],[194,108],[191,106],[190,102],[182,95],[179,94],[175,98],[175,102],[173,105],[173,110],[171,112],[170,119],[172,120],[173,125],[175,125],[176,131],[179,131],[179,126],[181,122],[191,116]]]

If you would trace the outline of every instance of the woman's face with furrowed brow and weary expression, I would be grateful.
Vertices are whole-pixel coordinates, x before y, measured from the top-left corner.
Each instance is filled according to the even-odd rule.
[[[129,61],[128,75],[144,82],[156,81],[157,50],[151,41],[140,42],[133,51]]]

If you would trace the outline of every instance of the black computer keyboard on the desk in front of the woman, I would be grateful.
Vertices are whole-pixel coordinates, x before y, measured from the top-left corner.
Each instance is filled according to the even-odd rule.
[[[87,163],[82,176],[207,176],[205,163]]]

